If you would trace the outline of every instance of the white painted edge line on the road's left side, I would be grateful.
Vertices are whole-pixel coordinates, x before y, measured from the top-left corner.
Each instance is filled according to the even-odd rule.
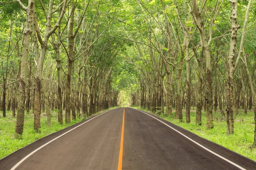
[[[112,111],[112,110],[109,110],[109,111]],[[106,112],[104,112],[104,113],[107,113],[107,112],[108,112],[108,111],[106,111]],[[102,115],[102,114],[104,114],[104,113],[101,113],[101,114],[99,114],[98,116],[100,116],[100,115]],[[95,118],[98,117],[98,116],[95,116],[95,117],[93,117],[92,119],[95,119]],[[90,120],[92,120],[92,119],[90,119]],[[16,169],[23,161],[25,161],[29,156],[31,156],[32,154],[34,154],[35,152],[37,152],[37,151],[40,150],[41,148],[45,147],[47,144],[49,144],[49,143],[55,141],[56,139],[60,138],[61,136],[64,136],[65,134],[69,133],[70,131],[76,129],[77,127],[79,127],[79,126],[81,126],[81,125],[84,125],[85,123],[89,122],[90,120],[87,120],[86,122],[84,122],[84,123],[82,123],[82,124],[80,124],[80,125],[74,127],[73,129],[71,129],[71,130],[69,130],[69,131],[67,131],[67,132],[65,132],[65,133],[63,133],[63,134],[61,134],[60,136],[58,136],[58,137],[56,137],[56,138],[50,140],[50,141],[47,142],[46,144],[43,144],[41,147],[38,147],[36,150],[34,150],[33,152],[29,153],[27,156],[25,156],[23,159],[21,159],[17,164],[15,164],[15,166],[12,167],[11,170],[15,170],[15,169]]]

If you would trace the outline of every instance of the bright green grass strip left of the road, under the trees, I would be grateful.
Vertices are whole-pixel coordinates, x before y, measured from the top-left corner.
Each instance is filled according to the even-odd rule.
[[[96,114],[103,113],[101,111]],[[64,116],[63,116],[64,118]],[[0,159],[5,156],[19,150],[26,145],[35,142],[38,139],[41,139],[49,134],[55,133],[61,129],[74,125],[78,122],[82,121],[82,119],[71,120],[70,123],[60,125],[58,123],[58,114],[56,112],[52,112],[52,126],[47,126],[47,118],[45,113],[41,114],[41,130],[40,133],[34,132],[34,114],[26,114],[24,118],[24,131],[23,135],[20,139],[14,138],[15,132],[15,122],[16,118],[12,117],[12,112],[7,111],[6,118],[0,116]]]

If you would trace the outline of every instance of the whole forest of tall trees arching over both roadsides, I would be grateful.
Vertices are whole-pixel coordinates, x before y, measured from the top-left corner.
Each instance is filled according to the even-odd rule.
[[[0,124],[12,123],[9,139],[22,140],[26,116],[36,134],[113,107],[206,130],[222,122],[225,136],[250,113],[254,148],[256,2],[0,0]]]

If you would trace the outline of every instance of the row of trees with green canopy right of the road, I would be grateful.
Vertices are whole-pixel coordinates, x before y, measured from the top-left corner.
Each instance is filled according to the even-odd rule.
[[[180,122],[184,106],[187,123],[193,107],[198,125],[204,106],[208,128],[219,108],[227,134],[234,133],[240,106],[245,114],[254,106],[256,119],[255,5],[251,0],[129,3],[125,39],[134,44],[122,58],[137,69],[140,84],[139,91],[131,91],[131,105],[154,113],[164,113],[166,106],[169,115],[175,108]]]

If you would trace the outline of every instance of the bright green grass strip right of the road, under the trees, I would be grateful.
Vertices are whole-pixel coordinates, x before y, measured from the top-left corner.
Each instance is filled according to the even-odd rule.
[[[141,109],[140,107],[136,107]],[[141,109],[143,110],[143,109]],[[144,110],[145,111],[145,110]],[[151,113],[151,112],[149,112]],[[183,122],[174,119],[175,113],[172,116],[166,114],[160,114],[158,116],[166,119],[169,122],[174,123],[186,130],[189,130],[198,136],[201,136],[209,141],[220,144],[236,153],[239,153],[247,158],[256,161],[256,148],[253,148],[254,137],[254,113],[249,111],[247,115],[242,110],[239,110],[239,114],[235,117],[233,135],[226,135],[226,120],[221,118],[221,112],[213,112],[214,128],[207,129],[205,112],[202,112],[202,126],[195,124],[195,111],[190,113],[191,123],[186,123],[186,113],[183,111]]]

